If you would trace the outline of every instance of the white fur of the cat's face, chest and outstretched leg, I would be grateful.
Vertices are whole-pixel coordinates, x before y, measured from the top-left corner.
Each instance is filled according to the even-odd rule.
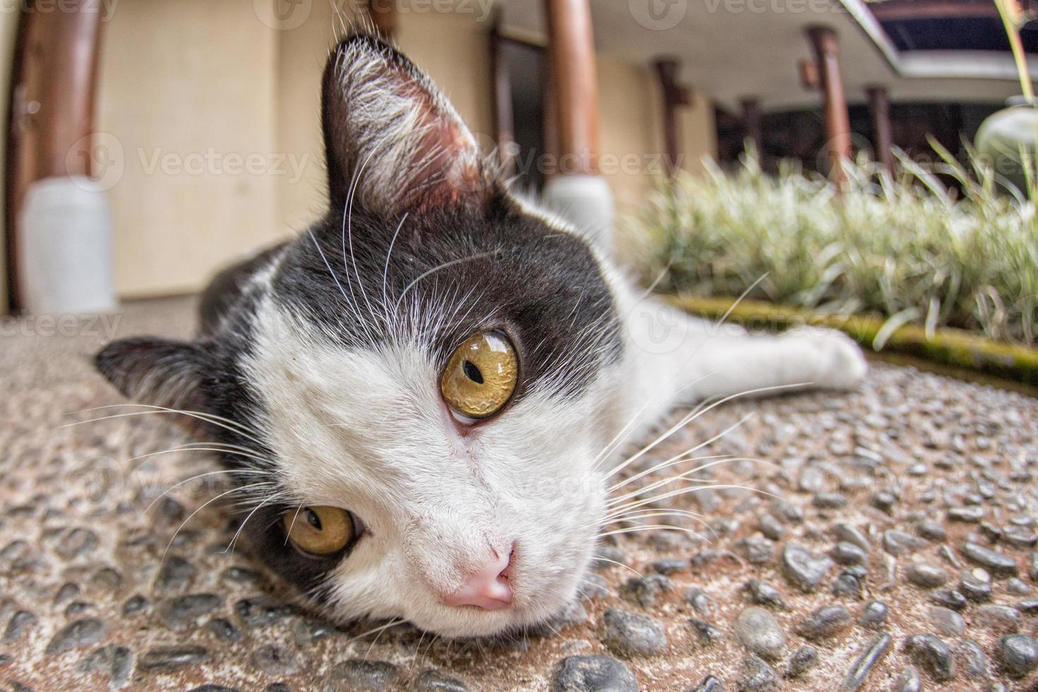
[[[625,325],[620,364],[579,398],[532,391],[465,436],[420,335],[344,349],[264,303],[246,371],[280,475],[294,501],[349,508],[367,531],[328,576],[338,617],[403,617],[447,636],[543,620],[574,597],[591,560],[609,468],[595,462],[632,416],[640,411],[647,427],[678,403],[797,383],[846,388],[865,373],[856,347],[834,332],[713,328],[637,300],[619,272],[604,262],[603,272]],[[663,326],[682,338],[659,347],[650,334]],[[443,605],[439,596],[513,543],[512,608]]]

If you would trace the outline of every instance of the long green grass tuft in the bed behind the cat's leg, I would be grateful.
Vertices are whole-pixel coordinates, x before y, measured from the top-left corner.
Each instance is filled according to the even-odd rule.
[[[708,164],[706,175],[660,182],[633,224],[639,270],[647,282],[662,275],[664,292],[726,297],[753,286],[750,299],[879,315],[884,333],[954,327],[1033,347],[1034,200],[999,192],[976,157],[966,170],[935,148],[935,168],[899,155],[897,178],[848,163],[843,194],[789,164],[766,174],[753,154],[733,172]]]

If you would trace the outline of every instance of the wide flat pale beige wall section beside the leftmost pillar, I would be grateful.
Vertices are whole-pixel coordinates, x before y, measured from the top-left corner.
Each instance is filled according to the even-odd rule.
[[[277,237],[277,32],[252,2],[122,0],[105,27],[98,128],[120,296],[195,290]]]

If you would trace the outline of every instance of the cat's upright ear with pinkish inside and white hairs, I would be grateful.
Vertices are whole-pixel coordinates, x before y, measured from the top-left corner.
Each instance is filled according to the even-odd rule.
[[[344,39],[328,58],[322,128],[333,206],[397,219],[448,203],[482,204],[492,167],[454,107],[414,64],[374,36]]]

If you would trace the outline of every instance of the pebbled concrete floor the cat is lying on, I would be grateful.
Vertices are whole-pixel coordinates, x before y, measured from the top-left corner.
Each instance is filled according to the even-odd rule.
[[[753,412],[700,454],[767,464],[702,478],[770,495],[667,501],[703,515],[687,524],[702,537],[614,536],[586,598],[542,633],[360,636],[371,624],[323,622],[247,554],[224,552],[229,507],[200,508],[165,552],[218,490],[189,483],[145,511],[214,468],[198,453],[130,461],[183,442],[175,430],[154,416],[63,426],[119,403],[90,353],[115,335],[186,335],[191,309],[171,299],[94,322],[0,321],[10,689],[1038,689],[1038,400],[876,365],[851,394],[718,407],[631,472]]]

